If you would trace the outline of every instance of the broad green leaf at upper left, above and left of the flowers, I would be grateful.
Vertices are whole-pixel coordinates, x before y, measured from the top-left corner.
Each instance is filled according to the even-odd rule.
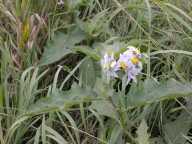
[[[57,33],[55,37],[49,41],[45,47],[45,52],[40,61],[40,65],[48,65],[59,61],[64,56],[72,53],[75,44],[85,39],[85,33],[75,28],[68,34]]]

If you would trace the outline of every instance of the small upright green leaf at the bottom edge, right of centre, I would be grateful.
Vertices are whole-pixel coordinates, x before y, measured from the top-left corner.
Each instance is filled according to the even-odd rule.
[[[150,135],[147,133],[148,126],[145,120],[142,120],[141,124],[137,129],[137,141],[138,144],[150,144],[149,137]]]

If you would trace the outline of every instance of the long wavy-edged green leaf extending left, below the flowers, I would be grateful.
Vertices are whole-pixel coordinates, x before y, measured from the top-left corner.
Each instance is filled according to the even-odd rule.
[[[55,110],[68,110],[74,105],[85,101],[90,101],[93,97],[89,89],[83,89],[74,84],[68,91],[60,91],[56,89],[50,96],[38,100],[29,107],[29,114],[38,114]]]

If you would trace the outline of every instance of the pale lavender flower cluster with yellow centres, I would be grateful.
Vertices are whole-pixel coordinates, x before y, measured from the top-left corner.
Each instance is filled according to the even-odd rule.
[[[136,82],[136,76],[142,70],[142,58],[143,54],[137,48],[128,46],[118,59],[115,59],[114,53],[105,53],[101,60],[101,66],[107,79],[119,77],[118,73],[123,71],[127,83],[131,80]]]

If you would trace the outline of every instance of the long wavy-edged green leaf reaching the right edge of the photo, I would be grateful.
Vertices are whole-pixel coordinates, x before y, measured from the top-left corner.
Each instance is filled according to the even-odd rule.
[[[158,83],[154,79],[147,79],[138,85],[132,85],[127,95],[127,104],[129,108],[133,108],[191,94],[192,86],[190,84],[182,84],[174,79],[162,83]]]

